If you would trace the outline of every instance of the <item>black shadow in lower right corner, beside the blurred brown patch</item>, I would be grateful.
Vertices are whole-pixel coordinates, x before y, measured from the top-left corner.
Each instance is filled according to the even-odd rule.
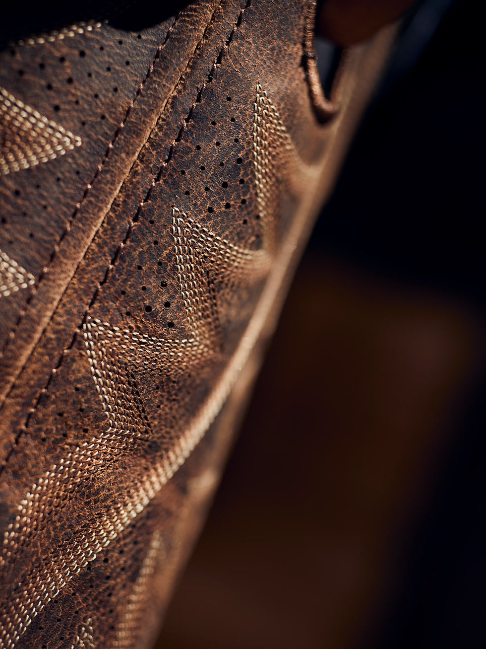
[[[486,381],[470,397],[376,649],[486,644]]]

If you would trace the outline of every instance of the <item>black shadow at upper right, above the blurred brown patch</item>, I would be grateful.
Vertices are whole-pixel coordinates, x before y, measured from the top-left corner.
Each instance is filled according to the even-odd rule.
[[[311,249],[482,308],[481,34],[477,4],[469,0],[452,5],[404,75],[399,44]],[[413,63],[408,41],[406,49]]]

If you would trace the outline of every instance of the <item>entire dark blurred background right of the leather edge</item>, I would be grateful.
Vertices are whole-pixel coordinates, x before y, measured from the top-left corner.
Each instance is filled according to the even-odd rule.
[[[157,647],[486,645],[482,31],[408,15]]]

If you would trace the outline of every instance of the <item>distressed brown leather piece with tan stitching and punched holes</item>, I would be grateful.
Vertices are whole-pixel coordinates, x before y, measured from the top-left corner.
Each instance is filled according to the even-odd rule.
[[[200,2],[0,53],[0,647],[154,640],[388,50],[326,106],[310,20]]]

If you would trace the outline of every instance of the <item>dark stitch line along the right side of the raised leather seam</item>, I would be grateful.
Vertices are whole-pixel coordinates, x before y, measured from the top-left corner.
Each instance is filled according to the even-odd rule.
[[[224,2],[224,0],[221,0],[220,5],[218,5],[218,8],[222,5],[223,2]],[[158,173],[157,173],[157,176],[156,176],[155,180],[152,181],[152,185],[150,186],[148,192],[146,193],[145,201],[142,201],[141,204],[139,205],[139,207],[137,208],[137,212],[135,212],[135,215],[133,216],[132,222],[131,222],[130,225],[128,226],[128,230],[126,231],[126,234],[125,234],[125,236],[124,236],[124,239],[122,240],[122,242],[120,243],[119,247],[117,248],[117,251],[116,251],[115,254],[113,255],[113,258],[111,259],[110,265],[108,265],[108,268],[106,269],[106,272],[105,272],[105,274],[104,274],[104,277],[103,277],[102,281],[100,282],[100,284],[98,285],[98,288],[95,290],[95,293],[93,293],[93,297],[92,297],[91,301],[89,302],[89,305],[88,305],[86,311],[85,311],[84,314],[83,314],[82,322],[80,323],[80,325],[78,326],[78,329],[77,329],[77,330],[75,331],[75,333],[73,334],[73,338],[71,339],[71,342],[69,343],[69,345],[68,345],[68,346],[67,346],[67,347],[62,351],[62,353],[61,353],[61,355],[60,355],[60,357],[59,357],[58,362],[57,362],[56,365],[52,368],[51,374],[49,375],[49,378],[47,379],[47,382],[46,382],[46,384],[45,384],[45,387],[43,387],[43,388],[40,390],[40,393],[39,393],[38,397],[36,398],[36,400],[35,400],[35,402],[34,402],[34,406],[32,406],[32,408],[29,409],[29,413],[27,414],[27,417],[26,417],[26,419],[25,419],[25,424],[24,424],[23,426],[21,426],[21,428],[19,429],[19,432],[18,432],[18,434],[16,435],[16,439],[14,440],[14,443],[12,444],[12,448],[10,448],[10,451],[8,452],[8,454],[7,454],[6,458],[5,458],[5,463],[3,464],[2,467],[0,467],[0,477],[1,477],[1,475],[2,475],[2,473],[3,473],[3,471],[4,471],[4,469],[5,469],[6,465],[8,464],[8,460],[10,459],[10,456],[11,456],[12,453],[14,452],[14,448],[17,446],[17,444],[18,444],[18,442],[19,442],[19,439],[20,439],[21,435],[22,435],[22,434],[27,430],[27,428],[29,427],[30,419],[31,419],[32,415],[36,412],[37,408],[38,408],[38,405],[39,405],[39,401],[40,401],[41,396],[42,396],[44,393],[47,392],[47,389],[49,388],[49,386],[50,386],[50,384],[51,384],[51,382],[52,382],[52,378],[55,376],[56,372],[58,371],[58,369],[59,369],[60,366],[62,365],[62,361],[64,360],[65,356],[67,355],[67,352],[69,352],[69,350],[72,349],[73,346],[75,345],[76,338],[77,338],[77,336],[78,336],[78,332],[80,332],[80,330],[82,329],[83,324],[86,323],[86,317],[87,317],[87,315],[88,315],[88,313],[89,313],[89,310],[91,309],[91,307],[92,307],[93,304],[95,303],[95,300],[96,300],[97,297],[98,297],[98,293],[99,293],[101,287],[104,286],[104,284],[106,284],[106,282],[108,281],[108,276],[110,275],[110,271],[115,267],[115,263],[116,263],[117,260],[119,259],[119,256],[120,256],[120,253],[121,253],[121,251],[122,251],[122,248],[124,247],[124,245],[126,244],[126,242],[128,241],[128,239],[130,238],[130,235],[132,234],[133,225],[134,225],[134,223],[136,223],[136,222],[138,221],[138,217],[139,217],[139,214],[140,214],[141,208],[143,207],[143,205],[145,204],[145,202],[150,201],[150,195],[152,194],[152,191],[154,190],[154,187],[156,186],[157,182],[159,182],[159,180],[160,180],[160,177],[161,177],[161,174],[162,174],[162,170],[164,169],[164,167],[167,166],[168,162],[170,162],[170,160],[172,159],[172,154],[174,153],[174,147],[175,147],[176,143],[178,143],[178,142],[181,140],[181,137],[182,137],[182,135],[183,135],[185,129],[187,128],[187,124],[189,123],[189,121],[191,120],[192,115],[194,114],[194,108],[196,108],[196,105],[197,105],[198,103],[201,103],[202,93],[203,93],[203,91],[205,90],[207,84],[208,84],[208,83],[211,83],[211,81],[213,80],[213,75],[214,75],[214,71],[216,70],[216,66],[219,66],[219,65],[222,63],[222,60],[223,60],[224,55],[225,55],[225,53],[226,53],[226,51],[227,51],[227,48],[228,48],[229,44],[231,43],[231,41],[233,40],[233,38],[234,38],[234,36],[235,36],[235,32],[237,31],[238,27],[239,27],[239,26],[241,25],[241,23],[242,23],[242,19],[243,19],[244,12],[246,11],[246,9],[248,9],[248,7],[249,7],[250,5],[251,5],[251,0],[247,0],[245,6],[240,10],[240,13],[238,14],[237,21],[235,22],[235,25],[233,25],[233,29],[231,29],[231,32],[229,33],[229,36],[228,36],[228,38],[227,38],[226,43],[224,43],[224,45],[223,45],[223,47],[221,48],[220,52],[218,53],[218,55],[217,55],[216,58],[214,59],[213,66],[211,67],[211,71],[209,72],[209,75],[208,75],[208,77],[207,77],[207,80],[206,80],[205,82],[203,82],[202,88],[200,89],[200,91],[198,92],[198,95],[196,96],[196,101],[194,101],[194,103],[192,104],[191,108],[189,109],[189,113],[187,114],[187,117],[185,117],[185,119],[184,119],[184,121],[183,121],[183,123],[182,123],[182,125],[181,125],[181,128],[179,129],[179,133],[178,133],[178,135],[177,135],[176,138],[172,141],[172,144],[170,145],[170,149],[169,149],[168,154],[167,154],[167,158],[162,162],[162,164],[161,164],[161,166],[160,166],[160,168],[159,168],[159,171],[158,171]],[[204,36],[205,36],[205,34],[206,34],[206,32],[207,32],[207,29],[209,29],[209,26],[211,25],[211,23],[212,23],[212,21],[213,21],[214,14],[216,14],[216,11],[217,11],[217,8],[214,10],[214,12],[213,12],[213,16],[211,16],[211,19],[210,19],[209,22],[208,22],[208,25],[207,25],[207,27],[206,27],[204,33],[203,33],[203,36],[202,36],[202,39],[201,39],[200,43],[203,41]],[[175,23],[175,21],[174,21],[174,23]],[[199,44],[200,44],[200,43],[199,43]],[[192,58],[193,58],[193,57],[192,57]],[[192,60],[192,58],[191,58],[191,60]],[[189,66],[189,62],[188,62],[187,65]],[[184,71],[186,71],[186,70],[187,70],[187,67],[185,68]],[[182,74],[183,74],[183,73],[182,73]],[[182,74],[181,74],[181,76],[179,77],[179,82],[180,82],[180,79],[181,79],[181,77],[182,77]],[[176,86],[174,87],[174,90],[172,91],[172,93],[174,93],[174,91],[175,91],[176,88],[178,87],[179,82],[178,82],[178,84],[176,84]],[[49,325],[47,325],[47,326],[49,326]],[[8,395],[7,395],[7,397],[8,397]],[[6,398],[7,398],[7,397],[6,397]],[[51,553],[51,554],[52,554],[52,553]]]

